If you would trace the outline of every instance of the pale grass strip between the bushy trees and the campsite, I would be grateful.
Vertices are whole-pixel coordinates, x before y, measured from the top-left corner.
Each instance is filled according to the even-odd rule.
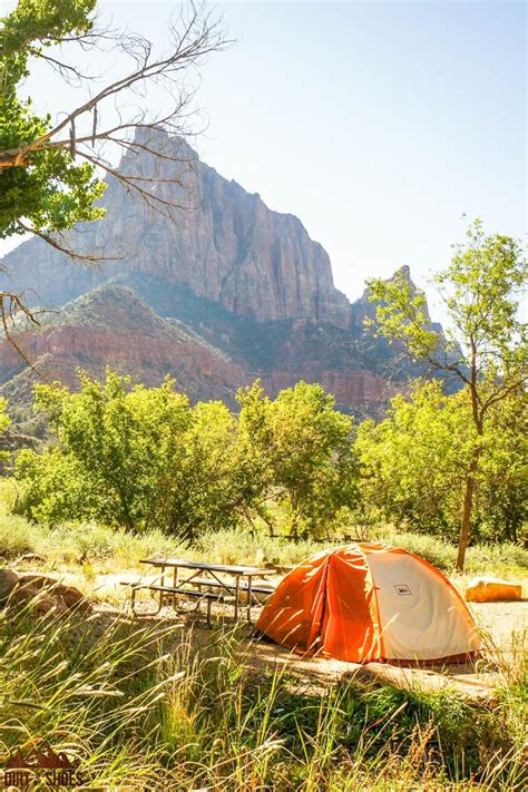
[[[437,537],[399,534],[379,527],[371,540],[388,541],[422,556],[447,573],[454,570],[457,548]],[[166,536],[159,530],[130,535],[97,524],[65,524],[57,528],[35,525],[23,517],[0,511],[0,557],[13,559],[26,553],[43,556],[55,568],[82,566],[105,570],[138,568],[140,558],[153,555],[184,555],[188,558],[223,564],[273,564],[292,566],[321,551],[326,545],[311,540],[297,544],[285,537],[271,538],[267,532],[247,529],[205,532],[194,544]],[[520,545],[477,545],[467,554],[467,575],[488,574],[507,578],[526,578],[528,551]]]

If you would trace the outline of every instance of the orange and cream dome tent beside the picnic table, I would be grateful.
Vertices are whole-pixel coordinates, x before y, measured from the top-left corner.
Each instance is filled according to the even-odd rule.
[[[350,663],[448,663],[480,648],[466,603],[448,578],[388,545],[312,556],[284,577],[256,627],[295,652]]]

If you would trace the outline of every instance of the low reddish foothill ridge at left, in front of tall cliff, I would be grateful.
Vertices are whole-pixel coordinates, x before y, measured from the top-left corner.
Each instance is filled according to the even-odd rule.
[[[10,401],[27,402],[35,381],[77,385],[79,369],[102,377],[110,365],[136,382],[159,384],[172,374],[195,399],[233,402],[247,374],[243,366],[189,329],[157,316],[129,289],[104,286],[78,297],[39,330],[17,335],[31,371],[8,341],[0,341],[0,384]]]

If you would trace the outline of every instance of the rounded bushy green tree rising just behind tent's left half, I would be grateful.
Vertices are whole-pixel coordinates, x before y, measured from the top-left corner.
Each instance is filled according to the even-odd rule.
[[[237,398],[254,480],[285,506],[291,536],[327,532],[356,502],[352,419],[320,384],[300,382],[272,401],[256,382]]]

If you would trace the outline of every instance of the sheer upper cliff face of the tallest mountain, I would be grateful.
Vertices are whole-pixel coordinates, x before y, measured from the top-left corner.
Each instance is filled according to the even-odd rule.
[[[315,319],[348,326],[350,303],[333,285],[327,254],[302,223],[272,212],[258,195],[223,178],[187,146],[158,135],[156,146],[172,146],[182,164],[155,162],[141,151],[128,154],[121,168],[143,178],[156,173],[157,195],[182,207],[172,211],[174,222],[109,179],[106,218],[84,226],[75,244],[118,261],[87,267],[31,241],[2,262],[4,283],[28,289],[33,303],[60,305],[116,275],[151,273],[187,284],[237,316]]]

